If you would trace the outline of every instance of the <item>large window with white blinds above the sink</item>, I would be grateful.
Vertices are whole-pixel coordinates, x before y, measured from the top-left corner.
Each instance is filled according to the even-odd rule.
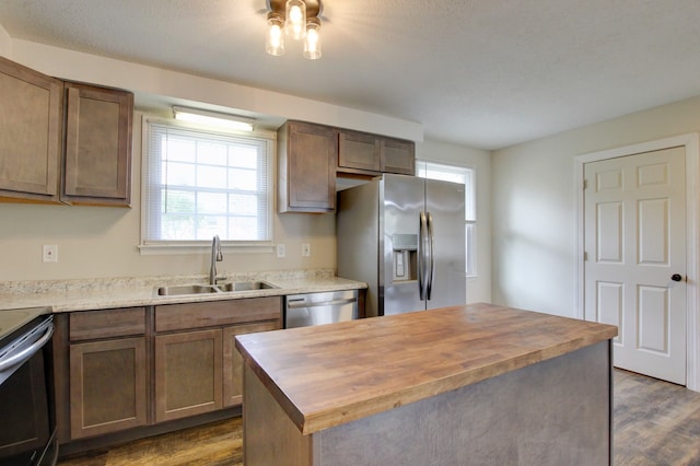
[[[144,123],[142,246],[272,241],[271,135]]]

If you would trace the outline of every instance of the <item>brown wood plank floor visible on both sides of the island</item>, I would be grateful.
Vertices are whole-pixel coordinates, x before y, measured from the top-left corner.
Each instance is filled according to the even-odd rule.
[[[615,371],[615,466],[700,465],[700,394]],[[59,461],[59,466],[243,465],[241,418]]]

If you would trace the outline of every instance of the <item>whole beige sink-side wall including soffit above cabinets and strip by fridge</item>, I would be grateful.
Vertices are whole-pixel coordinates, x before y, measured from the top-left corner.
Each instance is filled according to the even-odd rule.
[[[422,141],[422,126],[382,115],[302,100],[253,88],[213,81],[140,65],[104,59],[24,40],[12,40],[0,27],[0,55],[47,74],[159,94],[173,102],[209,102],[270,115],[326,123],[329,125],[385,133]],[[156,275],[207,273],[209,248],[196,254],[141,255],[141,116],[133,128],[132,208],[112,209],[83,206],[40,206],[0,203],[0,281],[56,280],[93,277],[148,277]],[[488,153],[425,142],[418,144],[419,156],[435,161],[463,161],[489,176]],[[480,185],[488,193],[488,182]],[[486,195],[485,195],[486,196]],[[488,205],[479,205],[488,211]],[[483,228],[488,222],[483,222]],[[485,231],[483,237],[489,233]],[[287,246],[287,257],[275,253],[245,253],[224,249],[221,273],[302,268],[336,268],[335,215],[276,214],[275,242]],[[312,256],[301,256],[301,244],[311,243]],[[58,245],[58,263],[42,261],[42,245]],[[488,301],[490,283],[487,246],[479,253],[482,277],[474,280],[474,293]]]

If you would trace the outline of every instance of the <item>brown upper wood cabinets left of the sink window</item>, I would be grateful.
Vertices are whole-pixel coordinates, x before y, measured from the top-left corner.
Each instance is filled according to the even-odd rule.
[[[133,94],[0,57],[0,199],[129,206]]]

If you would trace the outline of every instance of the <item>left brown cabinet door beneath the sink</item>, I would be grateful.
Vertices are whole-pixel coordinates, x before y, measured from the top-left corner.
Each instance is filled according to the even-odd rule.
[[[155,337],[155,422],[221,409],[221,329]]]

